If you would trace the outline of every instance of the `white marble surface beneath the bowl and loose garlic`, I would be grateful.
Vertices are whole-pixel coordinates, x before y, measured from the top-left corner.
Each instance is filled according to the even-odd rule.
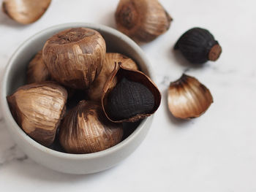
[[[1,119],[0,191],[256,191],[255,1],[160,1],[173,23],[142,48],[151,60],[162,104],[138,150],[105,172],[61,174],[27,158]],[[89,22],[115,27],[117,3],[53,0],[30,26],[0,13],[0,72],[20,43],[49,26]],[[192,68],[173,52],[176,39],[194,26],[208,28],[222,45],[217,62]],[[166,107],[167,86],[183,72],[197,77],[214,96],[203,116],[188,121],[172,118]]]

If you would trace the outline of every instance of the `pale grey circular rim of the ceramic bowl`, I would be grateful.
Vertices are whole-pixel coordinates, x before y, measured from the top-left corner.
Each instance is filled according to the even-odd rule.
[[[125,34],[122,34],[120,31],[117,31],[114,28],[110,28],[108,26],[104,26],[101,24],[94,24],[94,23],[63,23],[55,26],[50,26],[49,28],[45,28],[42,31],[37,32],[36,34],[32,35],[29,37],[29,39],[26,39],[21,45],[15,50],[15,52],[12,54],[10,60],[8,61],[7,65],[5,66],[4,69],[4,76],[2,77],[1,81],[1,112],[2,116],[5,120],[7,120],[10,125],[7,126],[8,128],[12,128],[21,139],[25,140],[26,142],[29,143],[32,147],[37,148],[37,150],[42,151],[43,153],[48,153],[49,155],[56,156],[58,158],[69,158],[69,159],[91,159],[91,158],[99,158],[105,155],[109,155],[111,153],[115,153],[118,150],[121,150],[121,148],[125,147],[126,145],[129,144],[129,142],[132,142],[133,139],[135,139],[138,134],[140,134],[140,131],[145,128],[144,125],[147,124],[148,121],[150,121],[152,118],[154,118],[154,115],[151,115],[150,117],[144,119],[138,128],[135,129],[135,131],[132,132],[132,134],[129,135],[126,139],[123,141],[119,142],[117,145],[114,145],[113,147],[110,147],[106,150],[102,150],[96,153],[86,153],[86,154],[72,154],[72,153],[64,153],[64,152],[59,152],[57,150],[50,149],[48,147],[45,147],[43,145],[40,145],[38,142],[34,141],[29,135],[25,133],[25,131],[18,126],[14,118],[12,117],[12,114],[10,112],[10,108],[7,104],[7,81],[8,77],[10,74],[10,71],[13,66],[13,61],[15,58],[20,54],[20,51],[23,50],[23,47],[26,47],[26,45],[29,45],[31,42],[36,41],[37,39],[40,38],[43,34],[47,34],[50,31],[53,30],[64,30],[64,28],[73,28],[73,27],[86,27],[86,28],[95,28],[96,30],[102,30],[106,31],[109,34],[113,34],[114,36],[120,38],[124,42],[126,42],[130,47],[132,47],[138,55],[143,59],[146,68],[148,70],[148,73],[152,77],[154,77],[153,71],[151,70],[151,65],[148,61],[148,58],[146,58],[145,53],[143,53],[143,50],[129,37],[127,37]],[[154,78],[153,78],[154,79]],[[7,123],[7,122],[5,122]]]

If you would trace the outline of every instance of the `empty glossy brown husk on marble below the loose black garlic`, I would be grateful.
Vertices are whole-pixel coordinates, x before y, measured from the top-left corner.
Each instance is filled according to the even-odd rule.
[[[167,101],[173,116],[181,119],[199,117],[214,102],[208,88],[187,74],[170,83]]]

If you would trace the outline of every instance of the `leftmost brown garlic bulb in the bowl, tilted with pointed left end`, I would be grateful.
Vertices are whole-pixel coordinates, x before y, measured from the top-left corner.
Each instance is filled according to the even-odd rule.
[[[7,96],[13,117],[32,139],[42,145],[53,143],[66,110],[67,91],[56,82],[23,85]]]

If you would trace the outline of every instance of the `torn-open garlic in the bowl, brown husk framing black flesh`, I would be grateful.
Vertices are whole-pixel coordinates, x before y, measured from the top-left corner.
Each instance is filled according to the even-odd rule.
[[[116,64],[102,91],[102,109],[114,123],[135,122],[159,107],[161,93],[143,72]]]

